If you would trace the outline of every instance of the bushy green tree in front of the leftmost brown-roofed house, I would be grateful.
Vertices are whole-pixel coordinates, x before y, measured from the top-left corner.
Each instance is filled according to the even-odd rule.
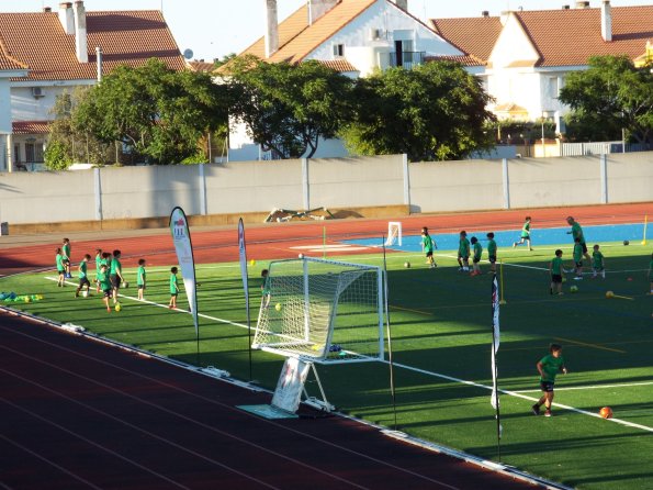
[[[74,112],[74,125],[102,142],[121,142],[153,164],[198,154],[200,138],[226,123],[226,90],[211,76],[174,71],[157,59],[117,67]]]

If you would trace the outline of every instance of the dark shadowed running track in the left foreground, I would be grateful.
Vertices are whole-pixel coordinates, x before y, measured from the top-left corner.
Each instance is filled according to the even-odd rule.
[[[269,421],[269,396],[0,313],[0,487],[523,489],[341,417]]]

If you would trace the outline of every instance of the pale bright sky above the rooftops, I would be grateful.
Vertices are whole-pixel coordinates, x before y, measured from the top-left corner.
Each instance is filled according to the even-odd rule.
[[[0,12],[56,10],[63,0],[0,0]],[[71,1],[71,0],[68,0]],[[279,21],[306,0],[278,0]],[[600,7],[601,0],[590,0]],[[611,0],[612,7],[646,5],[653,0]],[[480,16],[484,10],[498,15],[504,10],[561,9],[575,0],[408,0],[415,16],[426,19]],[[222,58],[239,53],[262,36],[266,0],[85,0],[87,10],[162,10],[181,52],[191,49],[194,59]]]

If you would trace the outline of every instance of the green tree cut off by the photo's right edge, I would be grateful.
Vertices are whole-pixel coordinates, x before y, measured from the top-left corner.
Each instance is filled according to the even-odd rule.
[[[560,100],[572,108],[570,140],[621,138],[653,143],[653,74],[635,68],[628,56],[595,56],[589,68],[568,75]]]

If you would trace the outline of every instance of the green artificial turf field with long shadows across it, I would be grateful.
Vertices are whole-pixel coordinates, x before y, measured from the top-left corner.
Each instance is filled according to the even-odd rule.
[[[500,460],[567,486],[653,489],[653,296],[648,296],[649,247],[601,244],[607,278],[570,280],[550,296],[548,265],[555,247],[499,249],[504,299],[498,372],[503,437]],[[565,264],[571,268],[570,247]],[[382,257],[347,261],[382,265]],[[457,271],[453,255],[436,253],[429,269],[421,254],[387,255],[396,428],[410,435],[497,459],[491,385],[491,275]],[[412,267],[405,268],[404,263]],[[260,301],[260,271],[249,267],[252,326]],[[191,364],[228,370],[249,380],[248,331],[237,264],[199,265],[200,353],[190,314],[169,311],[169,269],[148,268],[147,302],[122,292],[123,309],[108,313],[99,296],[74,298],[72,282],[57,288],[50,274],[0,280],[1,291],[43,294],[5,303]],[[134,270],[126,276],[135,277]],[[69,280],[70,281],[70,280]],[[181,281],[180,281],[181,283]],[[578,292],[571,293],[570,287]],[[606,298],[611,290],[616,297]],[[180,307],[187,307],[180,296]],[[553,416],[536,417],[540,396],[536,363],[550,343],[564,346],[570,374],[556,382]],[[387,358],[387,357],[386,357]],[[282,358],[252,353],[251,377],[273,388]],[[340,410],[395,428],[387,363],[318,366],[328,401]],[[311,394],[316,393],[308,382]],[[598,416],[609,405],[613,420]]]

